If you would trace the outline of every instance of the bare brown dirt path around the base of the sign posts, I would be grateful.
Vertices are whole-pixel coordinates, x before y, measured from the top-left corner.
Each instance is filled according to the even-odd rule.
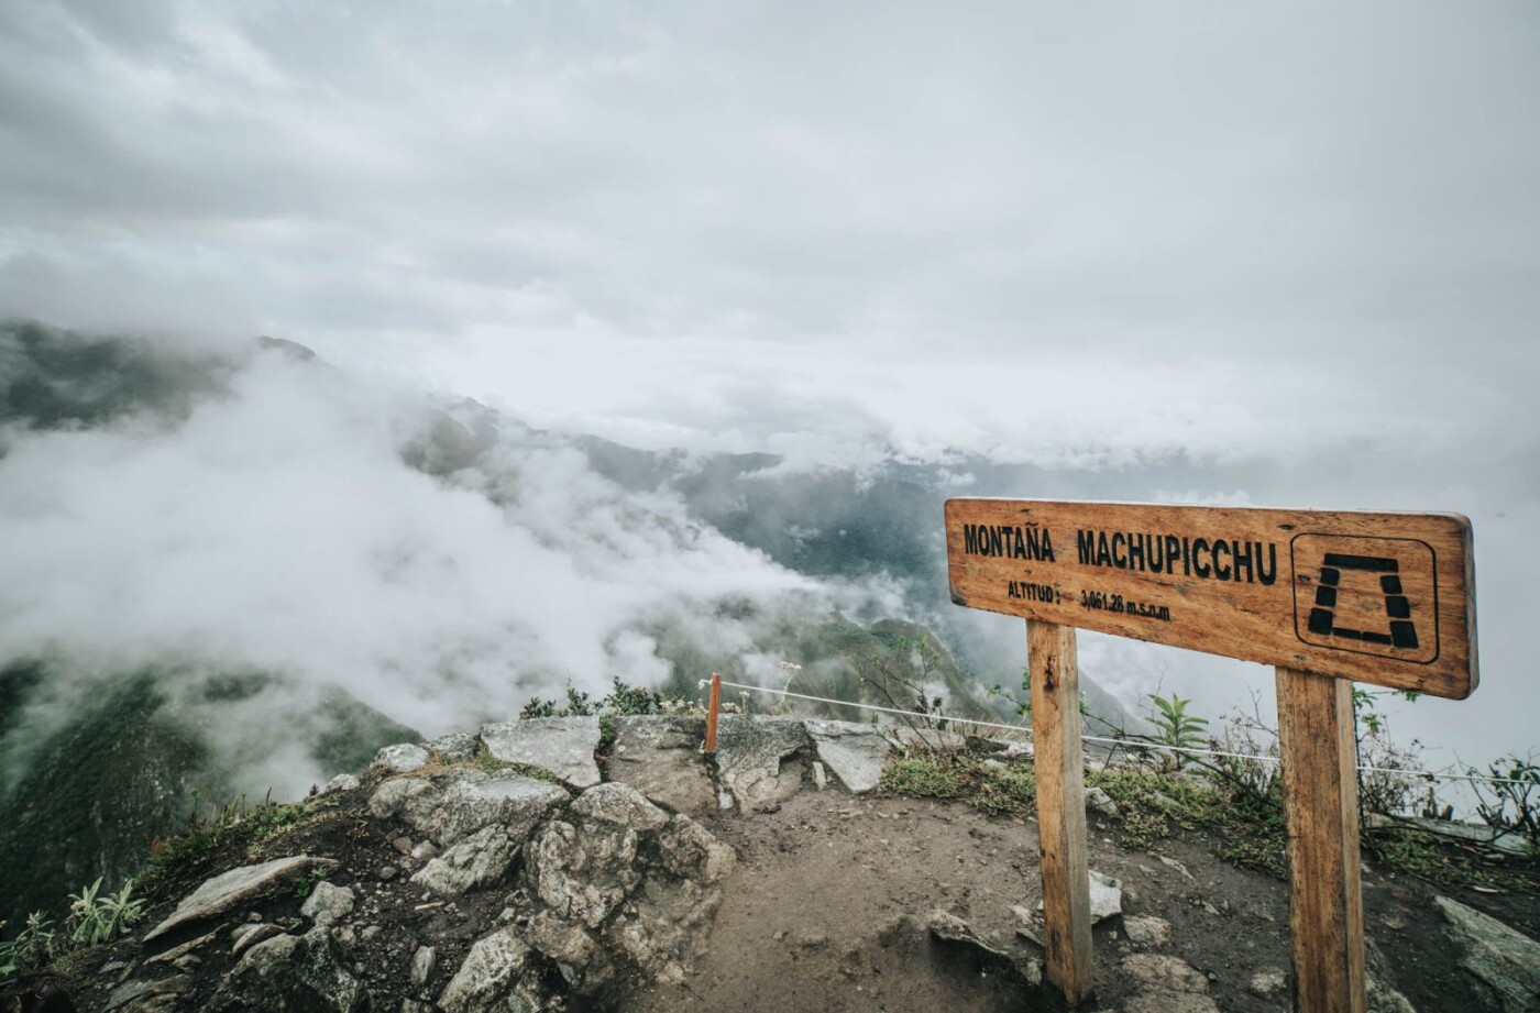
[[[836,790],[799,793],[775,813],[716,814],[704,822],[741,858],[711,950],[684,985],[638,984],[619,1008],[1063,1008],[1052,990],[1029,988],[1009,964],[966,944],[935,941],[916,921],[906,922],[915,916],[922,925],[941,908],[1012,956],[1041,956],[1016,934],[1012,911],[1040,901],[1033,822]],[[1170,941],[1137,945],[1121,918],[1096,925],[1090,1008],[1120,1008],[1132,998],[1140,985],[1121,962],[1150,951],[1204,973],[1210,998],[1227,1013],[1289,1010],[1286,987],[1269,995],[1252,988],[1257,975],[1289,967],[1286,884],[1221,862],[1212,856],[1214,841],[1200,834],[1163,842],[1160,853],[1124,851],[1116,827],[1092,817],[1090,867],[1123,881],[1126,916],[1167,921]],[[1488,1008],[1455,965],[1432,896],[1420,882],[1366,874],[1366,933],[1383,954],[1381,975],[1421,1013]],[[1489,908],[1494,901],[1454,896]]]

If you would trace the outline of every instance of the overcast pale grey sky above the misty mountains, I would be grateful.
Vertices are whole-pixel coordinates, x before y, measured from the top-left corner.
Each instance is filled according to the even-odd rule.
[[[1508,688],[1460,716],[1517,744],[1537,125],[1528,0],[0,0],[0,314],[644,446],[1468,513]]]

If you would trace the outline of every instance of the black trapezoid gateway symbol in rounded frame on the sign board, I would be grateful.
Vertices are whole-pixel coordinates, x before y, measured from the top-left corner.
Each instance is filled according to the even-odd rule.
[[[1438,657],[1438,560],[1431,545],[1298,534],[1289,547],[1300,640],[1417,664]]]

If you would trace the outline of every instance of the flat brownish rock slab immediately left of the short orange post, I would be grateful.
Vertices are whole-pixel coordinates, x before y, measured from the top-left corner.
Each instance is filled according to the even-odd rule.
[[[664,808],[704,813],[716,805],[711,774],[699,753],[704,741],[704,717],[616,717],[605,770],[611,782],[628,784]]]

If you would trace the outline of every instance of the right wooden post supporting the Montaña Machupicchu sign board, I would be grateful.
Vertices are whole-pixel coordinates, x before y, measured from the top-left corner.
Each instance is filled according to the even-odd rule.
[[[1352,682],[1278,668],[1294,1008],[1363,1013]]]

